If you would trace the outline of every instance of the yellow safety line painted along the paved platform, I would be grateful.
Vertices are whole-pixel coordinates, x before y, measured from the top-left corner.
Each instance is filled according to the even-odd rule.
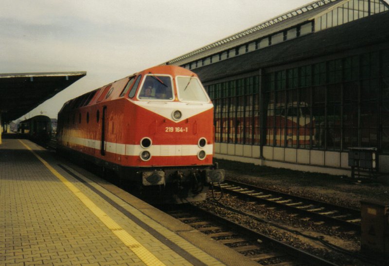
[[[134,252],[146,265],[164,265],[149,250],[144,248],[135,238],[124,231],[111,217],[94,204],[85,194],[76,188],[68,179],[59,174],[47,161],[37,155],[27,144],[19,140],[28,150],[30,150],[38,160],[40,160],[59,180],[61,180],[76,195],[92,213],[94,213],[123,243]]]

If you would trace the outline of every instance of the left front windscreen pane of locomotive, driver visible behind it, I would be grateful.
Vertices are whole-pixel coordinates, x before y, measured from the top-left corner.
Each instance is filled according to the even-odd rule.
[[[140,100],[173,101],[172,78],[164,75],[147,75],[139,92]]]

